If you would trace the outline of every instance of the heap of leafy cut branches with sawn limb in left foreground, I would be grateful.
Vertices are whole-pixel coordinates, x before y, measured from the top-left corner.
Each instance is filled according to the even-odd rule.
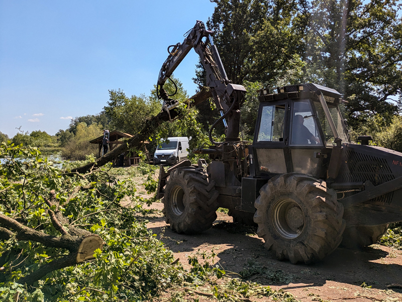
[[[130,179],[5,143],[0,159],[0,300],[137,300],[180,281],[172,253],[137,221]]]

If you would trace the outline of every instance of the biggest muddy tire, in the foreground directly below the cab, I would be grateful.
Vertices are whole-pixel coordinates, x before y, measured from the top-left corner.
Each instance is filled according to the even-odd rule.
[[[324,181],[296,173],[275,176],[260,189],[255,208],[257,234],[279,260],[312,263],[342,241],[343,205]]]

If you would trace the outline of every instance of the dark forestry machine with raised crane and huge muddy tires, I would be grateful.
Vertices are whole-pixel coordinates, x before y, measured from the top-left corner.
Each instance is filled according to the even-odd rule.
[[[278,259],[311,263],[340,244],[373,244],[389,223],[402,221],[402,153],[369,146],[370,136],[351,143],[336,90],[313,83],[261,89],[253,142],[241,140],[246,89],[228,79],[212,35],[197,21],[183,43],[168,47],[158,78],[162,110],[174,119],[178,102],[163,84],[193,48],[221,115],[211,146],[194,151],[208,154],[210,164],[160,167],[157,196],[173,231],[203,232],[227,208],[234,221],[257,224]],[[218,123],[224,142],[212,137]]]

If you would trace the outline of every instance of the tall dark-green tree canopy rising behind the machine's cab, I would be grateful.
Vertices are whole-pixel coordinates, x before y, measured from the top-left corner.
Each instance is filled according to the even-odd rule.
[[[229,79],[274,87],[315,82],[348,100],[353,127],[402,103],[397,0],[211,0],[207,26]],[[197,65],[196,82],[205,72]],[[388,121],[390,122],[390,120]]]

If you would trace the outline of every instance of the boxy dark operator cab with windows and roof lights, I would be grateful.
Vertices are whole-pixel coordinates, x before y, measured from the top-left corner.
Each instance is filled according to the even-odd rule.
[[[321,93],[330,116],[320,102]],[[341,94],[309,83],[280,87],[276,94],[262,89],[259,100],[250,172],[260,177],[297,172],[325,179],[336,145],[329,119],[342,141],[348,141],[339,110]]]

